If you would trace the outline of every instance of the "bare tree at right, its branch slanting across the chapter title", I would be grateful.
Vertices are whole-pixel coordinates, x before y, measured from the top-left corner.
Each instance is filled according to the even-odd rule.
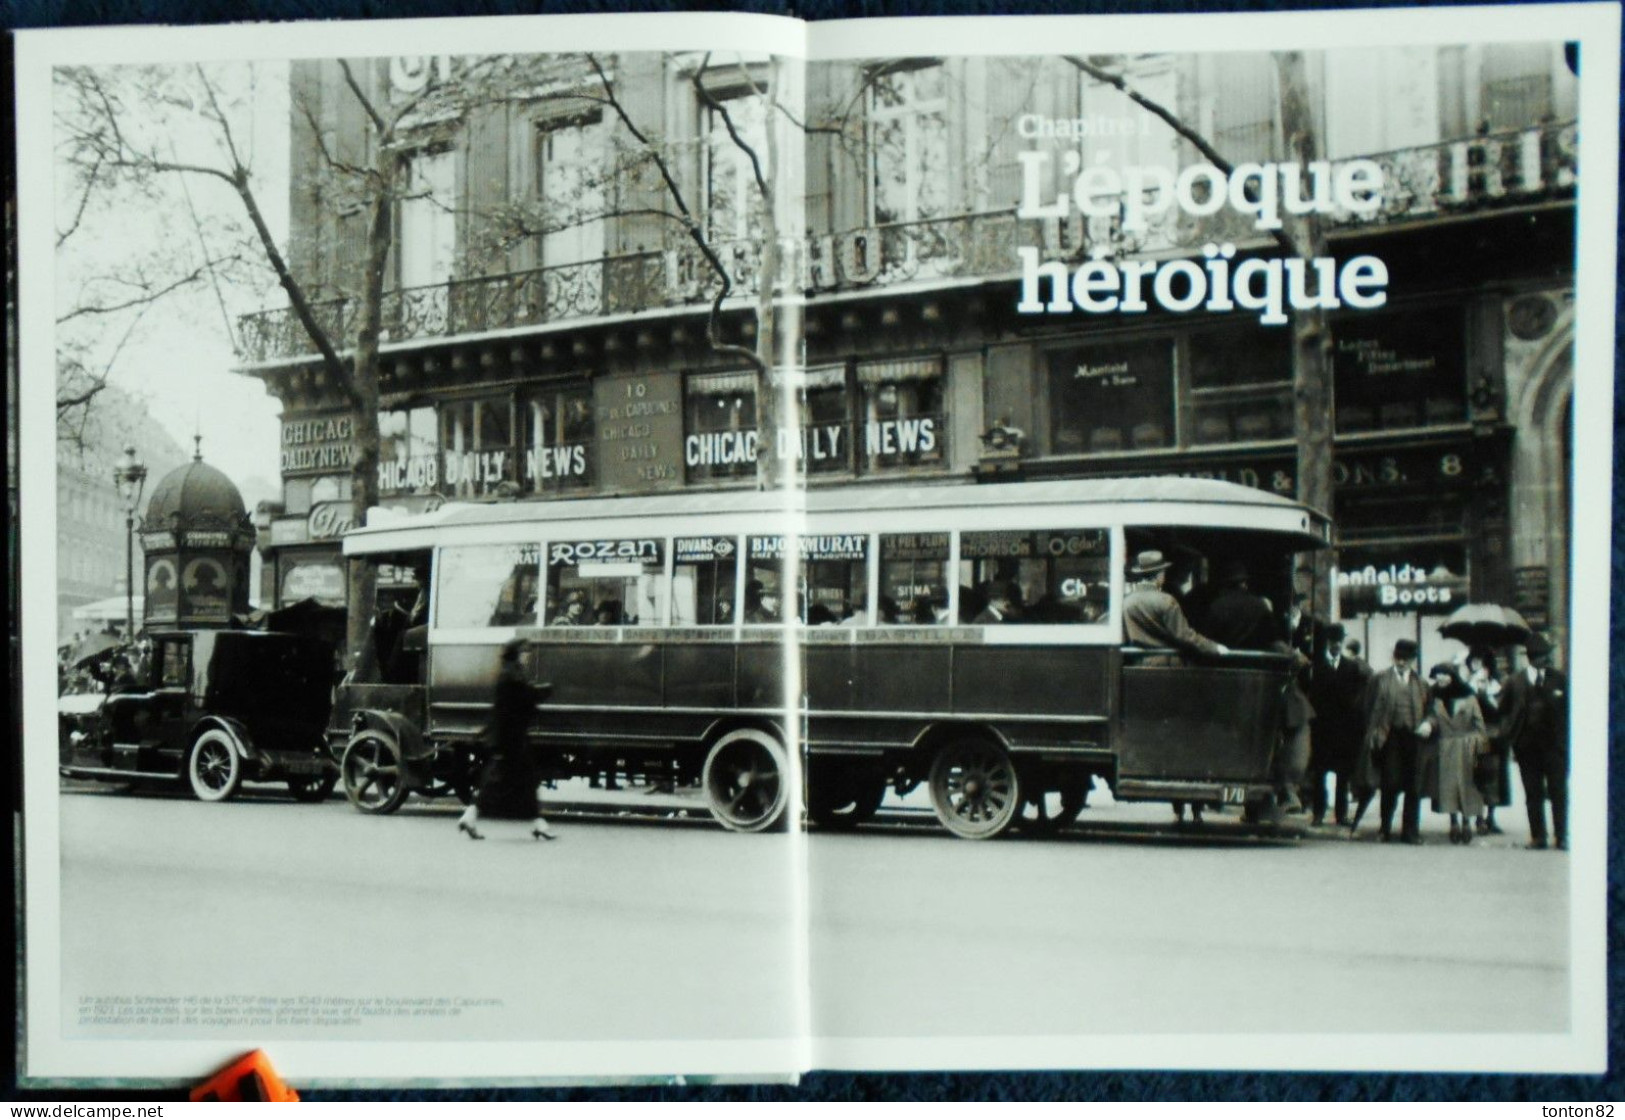
[[[1167,124],[1183,140],[1217,167],[1222,174],[1232,176],[1235,166],[1204,137],[1176,112],[1159,104],[1152,98],[1134,89],[1121,73],[1110,67],[1068,55],[1066,62],[1123,93],[1129,101]],[[1310,164],[1320,158],[1320,140],[1315,132],[1315,119],[1308,99],[1308,75],[1303,54],[1298,50],[1282,50],[1274,54],[1279,101],[1280,132],[1287,150],[1297,167],[1297,174],[1305,176]],[[1300,197],[1306,197],[1305,185],[1298,184]],[[1326,234],[1320,216],[1287,215],[1280,229],[1271,231],[1280,249],[1305,262],[1326,254]],[[1331,364],[1331,332],[1326,327],[1326,312],[1320,306],[1320,270],[1305,268],[1310,307],[1290,310],[1292,319],[1292,419],[1297,434],[1297,488],[1298,501],[1315,509],[1331,512],[1332,501],[1332,364]],[[1326,614],[1331,608],[1331,556],[1324,551],[1315,554],[1315,588],[1313,608],[1318,614]]]

